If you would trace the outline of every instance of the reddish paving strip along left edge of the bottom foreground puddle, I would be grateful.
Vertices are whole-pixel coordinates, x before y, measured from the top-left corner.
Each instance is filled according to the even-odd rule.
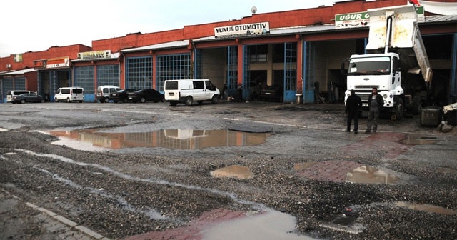
[[[174,239],[174,240],[201,240],[202,231],[209,229],[222,221],[245,217],[242,211],[231,211],[227,209],[214,209],[206,211],[198,219],[190,222],[189,226],[169,229],[166,231],[151,231],[146,234],[126,237],[126,240],[146,240],[146,239]]]

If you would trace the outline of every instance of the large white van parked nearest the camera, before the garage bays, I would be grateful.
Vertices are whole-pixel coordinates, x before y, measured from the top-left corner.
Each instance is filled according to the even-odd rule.
[[[171,106],[183,103],[192,105],[193,101],[199,104],[210,100],[216,104],[221,92],[208,79],[166,80],[164,87],[165,101]]]

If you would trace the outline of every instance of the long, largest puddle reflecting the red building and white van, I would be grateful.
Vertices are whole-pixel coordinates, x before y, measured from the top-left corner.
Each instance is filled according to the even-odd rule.
[[[81,143],[95,148],[123,149],[134,147],[164,147],[167,149],[204,149],[216,146],[255,146],[263,144],[268,133],[248,133],[231,130],[165,129],[151,132],[108,133],[105,129],[51,131],[52,136],[71,139],[65,144],[79,149]],[[88,146],[85,149],[91,150]]]

